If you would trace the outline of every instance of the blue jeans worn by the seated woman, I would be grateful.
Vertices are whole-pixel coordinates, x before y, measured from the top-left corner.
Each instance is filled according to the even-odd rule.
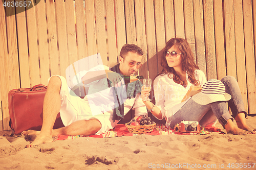
[[[236,117],[240,112],[244,112],[245,116],[247,116],[237,80],[234,77],[226,76],[221,79],[221,82],[225,85],[226,93],[231,95],[228,106],[232,111],[232,116]],[[173,115],[169,126],[170,128],[174,128],[175,124],[180,123],[181,120],[197,121],[203,127],[213,126],[217,123],[217,120],[219,120],[222,126],[225,126],[228,119],[231,118],[233,120],[232,116],[228,111],[227,102],[214,102],[207,105],[200,105],[190,98],[185,105]]]

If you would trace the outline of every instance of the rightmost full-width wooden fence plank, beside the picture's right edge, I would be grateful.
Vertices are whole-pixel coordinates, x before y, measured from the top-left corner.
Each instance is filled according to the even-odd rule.
[[[256,80],[255,80],[255,52],[253,45],[253,27],[252,27],[252,6],[250,0],[243,1],[243,19],[244,19],[244,43],[246,56],[246,77],[248,91],[249,113],[254,114],[256,111]]]

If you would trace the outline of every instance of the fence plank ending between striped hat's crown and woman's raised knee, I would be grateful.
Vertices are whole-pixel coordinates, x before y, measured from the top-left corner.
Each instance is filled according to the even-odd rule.
[[[226,57],[224,44],[224,26],[222,0],[214,1],[214,28],[215,28],[215,48],[216,48],[216,66],[217,79],[221,80],[226,76]]]

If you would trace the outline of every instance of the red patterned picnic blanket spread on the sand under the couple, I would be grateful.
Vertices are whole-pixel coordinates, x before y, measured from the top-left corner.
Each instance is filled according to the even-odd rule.
[[[157,124],[155,129],[150,133],[145,133],[141,135],[171,135],[171,134],[178,134],[178,135],[205,135],[209,134],[211,132],[218,132],[220,134],[223,134],[224,132],[221,131],[221,129],[216,127],[206,127],[204,128],[200,133],[180,133],[175,131],[174,129],[168,129],[165,125]],[[77,135],[77,136],[68,136],[68,135],[57,135],[55,137],[55,140],[66,140],[66,139],[75,139],[78,137],[97,137],[97,138],[105,138],[105,137],[119,137],[119,136],[135,136],[140,134],[130,133],[125,125],[123,124],[117,124],[114,129],[111,129],[107,132],[104,132],[101,135]]]

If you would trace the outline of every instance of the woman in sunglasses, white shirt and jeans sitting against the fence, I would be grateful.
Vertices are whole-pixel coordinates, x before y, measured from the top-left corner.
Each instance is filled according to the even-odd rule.
[[[154,80],[156,106],[150,101],[143,102],[156,118],[165,117],[167,127],[174,128],[181,120],[198,121],[203,127],[213,126],[218,119],[227,133],[255,133],[246,125],[247,113],[236,79],[227,76],[221,81],[211,79],[206,82],[185,39],[172,38],[166,43],[161,65],[163,70]],[[192,85],[202,86],[202,91],[181,103]],[[142,86],[142,99],[149,94],[150,90]],[[227,101],[238,127],[229,114]]]

